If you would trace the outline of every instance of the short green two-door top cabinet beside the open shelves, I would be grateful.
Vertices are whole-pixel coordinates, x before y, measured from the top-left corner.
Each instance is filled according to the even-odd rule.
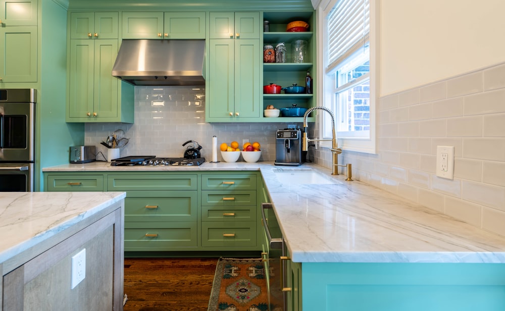
[[[210,39],[260,38],[259,12],[210,12]]]

